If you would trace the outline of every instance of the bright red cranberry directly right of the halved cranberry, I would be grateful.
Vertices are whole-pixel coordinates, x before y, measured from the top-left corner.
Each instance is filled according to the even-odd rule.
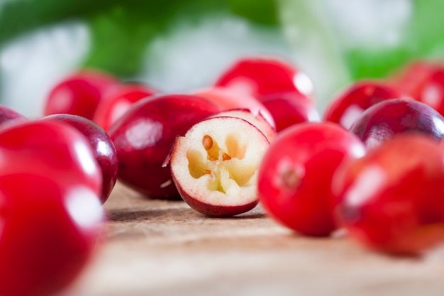
[[[331,182],[338,165],[365,154],[364,144],[332,123],[291,126],[271,143],[257,177],[260,203],[280,224],[306,236],[336,229]]]

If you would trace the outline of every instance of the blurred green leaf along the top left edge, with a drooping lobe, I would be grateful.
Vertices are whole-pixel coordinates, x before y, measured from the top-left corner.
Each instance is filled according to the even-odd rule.
[[[215,11],[237,13],[257,23],[277,23],[274,0],[14,0],[0,11],[0,47],[44,26],[82,20],[91,36],[83,65],[131,77],[140,71],[152,39],[174,19],[198,19]]]

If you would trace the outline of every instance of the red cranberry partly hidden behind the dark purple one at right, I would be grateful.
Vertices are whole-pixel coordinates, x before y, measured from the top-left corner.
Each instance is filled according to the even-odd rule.
[[[386,82],[355,82],[333,98],[326,108],[323,119],[350,128],[360,114],[370,106],[386,99],[402,97],[405,96]]]

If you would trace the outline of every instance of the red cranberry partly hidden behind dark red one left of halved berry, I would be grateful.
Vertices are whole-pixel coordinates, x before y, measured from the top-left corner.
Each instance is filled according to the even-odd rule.
[[[104,94],[94,114],[94,121],[108,131],[132,104],[157,93],[159,93],[157,90],[144,84],[118,84]]]

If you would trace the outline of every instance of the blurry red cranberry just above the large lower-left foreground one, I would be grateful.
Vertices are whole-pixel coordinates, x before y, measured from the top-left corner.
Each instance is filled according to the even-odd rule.
[[[102,176],[90,143],[72,126],[26,121],[0,132],[0,175],[27,172],[83,185],[100,195]]]

